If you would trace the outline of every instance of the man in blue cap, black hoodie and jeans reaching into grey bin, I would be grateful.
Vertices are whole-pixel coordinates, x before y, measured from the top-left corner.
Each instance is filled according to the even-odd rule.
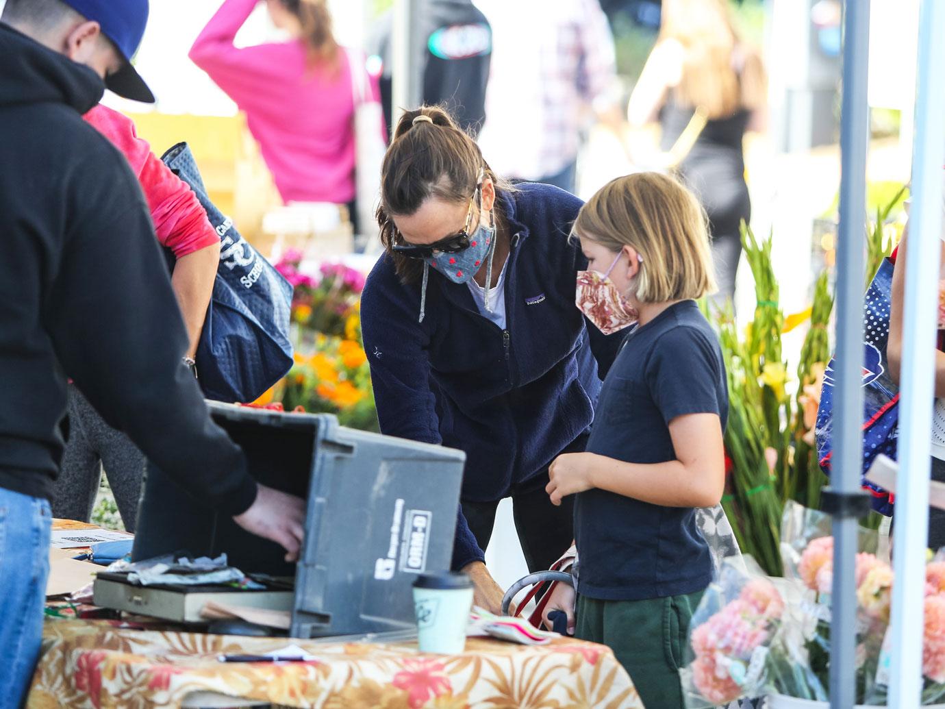
[[[147,0],[8,0],[0,18],[0,707],[39,650],[71,377],[191,493],[294,559],[302,501],[257,485],[182,364],[187,336],[125,158],[81,115],[150,98],[130,65]]]

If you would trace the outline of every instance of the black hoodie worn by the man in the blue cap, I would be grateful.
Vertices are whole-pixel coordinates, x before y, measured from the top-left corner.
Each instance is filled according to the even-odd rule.
[[[218,510],[255,499],[180,361],[187,336],[138,182],[81,115],[94,72],[0,24],[0,487],[48,496],[71,377]]]

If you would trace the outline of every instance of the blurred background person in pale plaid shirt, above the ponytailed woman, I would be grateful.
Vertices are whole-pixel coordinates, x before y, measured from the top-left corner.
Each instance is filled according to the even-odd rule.
[[[497,174],[575,191],[581,133],[619,124],[613,35],[598,0],[479,0],[492,26],[486,124]]]

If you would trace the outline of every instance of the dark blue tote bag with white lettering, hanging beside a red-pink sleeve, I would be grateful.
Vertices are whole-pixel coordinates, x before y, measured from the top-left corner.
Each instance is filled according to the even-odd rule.
[[[207,197],[186,143],[162,160],[194,190],[220,237],[220,265],[197,350],[200,388],[215,401],[254,401],[292,367],[292,285]]]

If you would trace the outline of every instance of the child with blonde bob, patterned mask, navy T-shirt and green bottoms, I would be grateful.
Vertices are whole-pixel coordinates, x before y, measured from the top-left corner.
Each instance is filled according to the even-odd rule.
[[[601,389],[585,453],[559,456],[547,492],[577,494],[576,635],[613,648],[648,709],[683,707],[690,619],[713,578],[696,508],[718,504],[729,409],[718,340],[695,299],[713,291],[706,217],[679,182],[610,182],[575,222],[588,271],[577,303],[602,330],[637,320]],[[569,613],[558,584],[549,608]]]

